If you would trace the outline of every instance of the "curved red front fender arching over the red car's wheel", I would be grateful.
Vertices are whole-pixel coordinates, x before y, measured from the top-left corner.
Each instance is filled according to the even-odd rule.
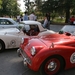
[[[39,53],[37,53],[34,56],[34,59],[32,61],[33,70],[34,71],[39,70],[39,68],[42,65],[42,63],[48,57],[55,56],[55,55],[58,55],[58,56],[60,56],[60,57],[62,57],[64,59],[65,64],[66,64],[65,69],[72,67],[72,66],[69,66],[69,65],[71,65],[70,56],[73,53],[74,48],[73,48],[73,51],[71,51],[71,49],[72,48],[70,48],[70,47],[67,48],[66,46],[64,46],[64,47],[60,46],[59,48],[55,47],[55,48],[51,48],[49,50],[41,50],[41,51],[39,51]],[[37,66],[35,66],[35,65],[37,65]]]

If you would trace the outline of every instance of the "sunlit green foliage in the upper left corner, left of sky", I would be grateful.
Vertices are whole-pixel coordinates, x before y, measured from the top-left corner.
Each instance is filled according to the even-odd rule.
[[[20,13],[17,0],[0,0],[0,3],[0,16],[16,16]]]

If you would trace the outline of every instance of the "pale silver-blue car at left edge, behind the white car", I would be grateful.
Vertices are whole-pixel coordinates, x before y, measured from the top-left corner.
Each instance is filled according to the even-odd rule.
[[[12,18],[0,17],[0,29],[19,27],[19,23]]]

